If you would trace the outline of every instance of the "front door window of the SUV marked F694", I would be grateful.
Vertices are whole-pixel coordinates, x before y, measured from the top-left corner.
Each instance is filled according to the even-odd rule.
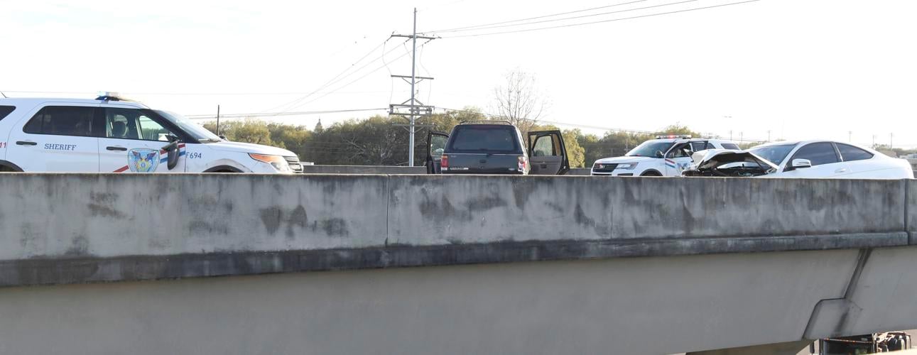
[[[105,108],[105,137],[167,141],[166,136],[174,136],[147,115],[137,108]]]

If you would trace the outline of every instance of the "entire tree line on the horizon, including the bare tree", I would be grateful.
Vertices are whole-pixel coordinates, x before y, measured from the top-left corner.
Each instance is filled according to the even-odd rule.
[[[500,119],[505,119],[525,133],[534,130],[558,129],[538,123],[549,101],[536,85],[535,75],[519,70],[507,72],[505,82],[493,90],[493,107]],[[463,110],[449,110],[443,114],[425,116],[421,124],[430,126],[419,130],[414,139],[414,161],[423,164],[426,158],[426,134],[429,130],[449,132],[462,121],[488,120],[492,116],[480,109],[467,107]],[[326,165],[407,165],[408,132],[400,116],[371,116],[366,119],[348,119],[323,128],[321,122],[315,128],[271,123],[255,119],[229,121],[221,125],[220,133],[229,140],[264,144],[291,150],[301,161],[312,161]],[[215,122],[204,124],[216,131]],[[635,146],[653,139],[656,135],[687,134],[702,137],[691,128],[673,125],[660,128],[657,132],[609,131],[601,137],[583,134],[580,129],[563,129],[564,143],[570,167],[586,167],[593,161],[622,156]],[[757,142],[739,143],[747,149]],[[875,147],[881,149],[881,146]],[[885,147],[888,148],[888,147]],[[913,150],[896,149],[889,154],[904,154]]]

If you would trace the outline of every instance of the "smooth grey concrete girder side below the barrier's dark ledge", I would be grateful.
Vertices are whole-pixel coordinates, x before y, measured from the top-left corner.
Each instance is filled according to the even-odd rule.
[[[856,250],[0,289],[0,353],[666,354],[787,341]]]

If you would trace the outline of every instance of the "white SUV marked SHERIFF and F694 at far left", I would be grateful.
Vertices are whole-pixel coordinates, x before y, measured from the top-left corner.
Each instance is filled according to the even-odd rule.
[[[0,98],[0,172],[302,171],[290,150],[220,139],[116,94]]]

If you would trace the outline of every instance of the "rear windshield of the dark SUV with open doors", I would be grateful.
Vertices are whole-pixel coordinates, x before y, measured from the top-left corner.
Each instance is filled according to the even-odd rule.
[[[481,125],[459,126],[452,133],[450,152],[518,152],[521,151],[518,135],[512,126]]]

